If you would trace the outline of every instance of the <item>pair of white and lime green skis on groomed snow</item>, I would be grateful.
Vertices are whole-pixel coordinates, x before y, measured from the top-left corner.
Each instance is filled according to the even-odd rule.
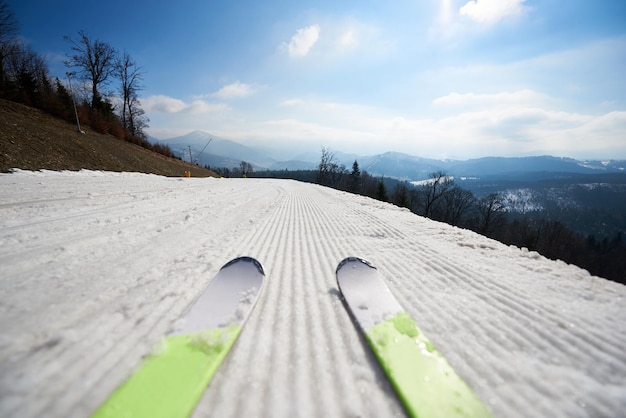
[[[339,263],[336,275],[348,310],[410,416],[490,416],[374,266],[350,257]],[[189,416],[239,336],[264,279],[254,258],[224,265],[187,311],[182,328],[167,336],[93,417]]]

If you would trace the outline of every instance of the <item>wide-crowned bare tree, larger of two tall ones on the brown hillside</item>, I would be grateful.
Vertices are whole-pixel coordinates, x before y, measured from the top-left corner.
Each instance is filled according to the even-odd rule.
[[[100,89],[115,75],[117,52],[106,42],[92,40],[82,30],[78,32],[78,39],[69,36],[64,39],[72,50],[65,65],[75,68],[78,77],[91,85],[91,108],[98,109],[102,103]]]

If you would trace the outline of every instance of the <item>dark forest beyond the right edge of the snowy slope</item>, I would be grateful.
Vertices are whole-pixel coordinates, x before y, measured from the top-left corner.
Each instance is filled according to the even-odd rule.
[[[507,210],[501,194],[490,193],[477,198],[445,172],[432,173],[428,181],[414,186],[405,181],[374,177],[361,171],[358,161],[347,169],[337,164],[327,148],[322,148],[317,170],[254,172],[245,162],[232,170],[212,169],[225,176],[294,179],[368,196],[626,284],[626,242],[620,231],[612,236],[585,236],[561,220],[561,217],[578,216],[580,219],[593,213],[597,215],[597,210],[553,208],[527,214],[512,213]]]

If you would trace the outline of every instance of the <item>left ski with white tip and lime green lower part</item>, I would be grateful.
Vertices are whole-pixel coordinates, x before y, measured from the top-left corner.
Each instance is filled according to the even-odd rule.
[[[179,326],[92,415],[186,417],[233,346],[263,288],[263,266],[239,257],[225,264]]]

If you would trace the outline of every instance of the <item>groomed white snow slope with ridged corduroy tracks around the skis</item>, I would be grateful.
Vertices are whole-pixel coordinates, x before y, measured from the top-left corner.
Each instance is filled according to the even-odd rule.
[[[0,175],[0,416],[84,417],[228,260],[267,285],[197,417],[403,416],[343,306],[359,256],[497,417],[626,411],[626,287],[317,185]]]

